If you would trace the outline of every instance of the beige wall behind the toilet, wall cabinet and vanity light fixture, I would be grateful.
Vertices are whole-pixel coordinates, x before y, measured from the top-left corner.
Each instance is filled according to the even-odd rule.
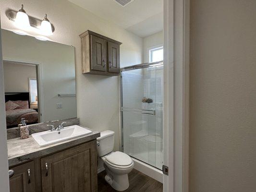
[[[54,41],[75,47],[77,116],[82,125],[104,131],[116,132],[115,149],[119,149],[119,77],[82,74],[81,43],[79,34],[89,29],[122,42],[121,65],[128,66],[142,62],[142,38],[99,18],[91,12],[67,0],[23,0],[24,9],[36,18],[48,13],[56,31]],[[0,0],[2,28],[12,29],[5,11],[18,10],[21,1]]]

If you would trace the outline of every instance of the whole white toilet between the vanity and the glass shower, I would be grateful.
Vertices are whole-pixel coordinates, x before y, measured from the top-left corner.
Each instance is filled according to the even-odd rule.
[[[124,191],[129,187],[128,173],[134,168],[130,156],[120,151],[113,152],[114,134],[112,131],[100,132],[97,138],[98,156],[104,162],[107,175],[105,180],[117,191]]]

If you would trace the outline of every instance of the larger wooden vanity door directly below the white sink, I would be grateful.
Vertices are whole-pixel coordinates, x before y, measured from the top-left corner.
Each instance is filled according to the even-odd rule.
[[[41,159],[43,192],[97,192],[96,140]]]

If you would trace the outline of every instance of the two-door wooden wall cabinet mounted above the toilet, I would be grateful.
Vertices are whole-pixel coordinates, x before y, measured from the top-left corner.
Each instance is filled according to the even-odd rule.
[[[83,73],[110,76],[120,74],[121,42],[89,30],[80,37]]]

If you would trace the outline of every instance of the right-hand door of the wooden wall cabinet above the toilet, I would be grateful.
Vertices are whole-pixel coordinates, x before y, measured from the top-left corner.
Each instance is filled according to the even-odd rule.
[[[120,45],[108,42],[109,72],[120,72]]]

